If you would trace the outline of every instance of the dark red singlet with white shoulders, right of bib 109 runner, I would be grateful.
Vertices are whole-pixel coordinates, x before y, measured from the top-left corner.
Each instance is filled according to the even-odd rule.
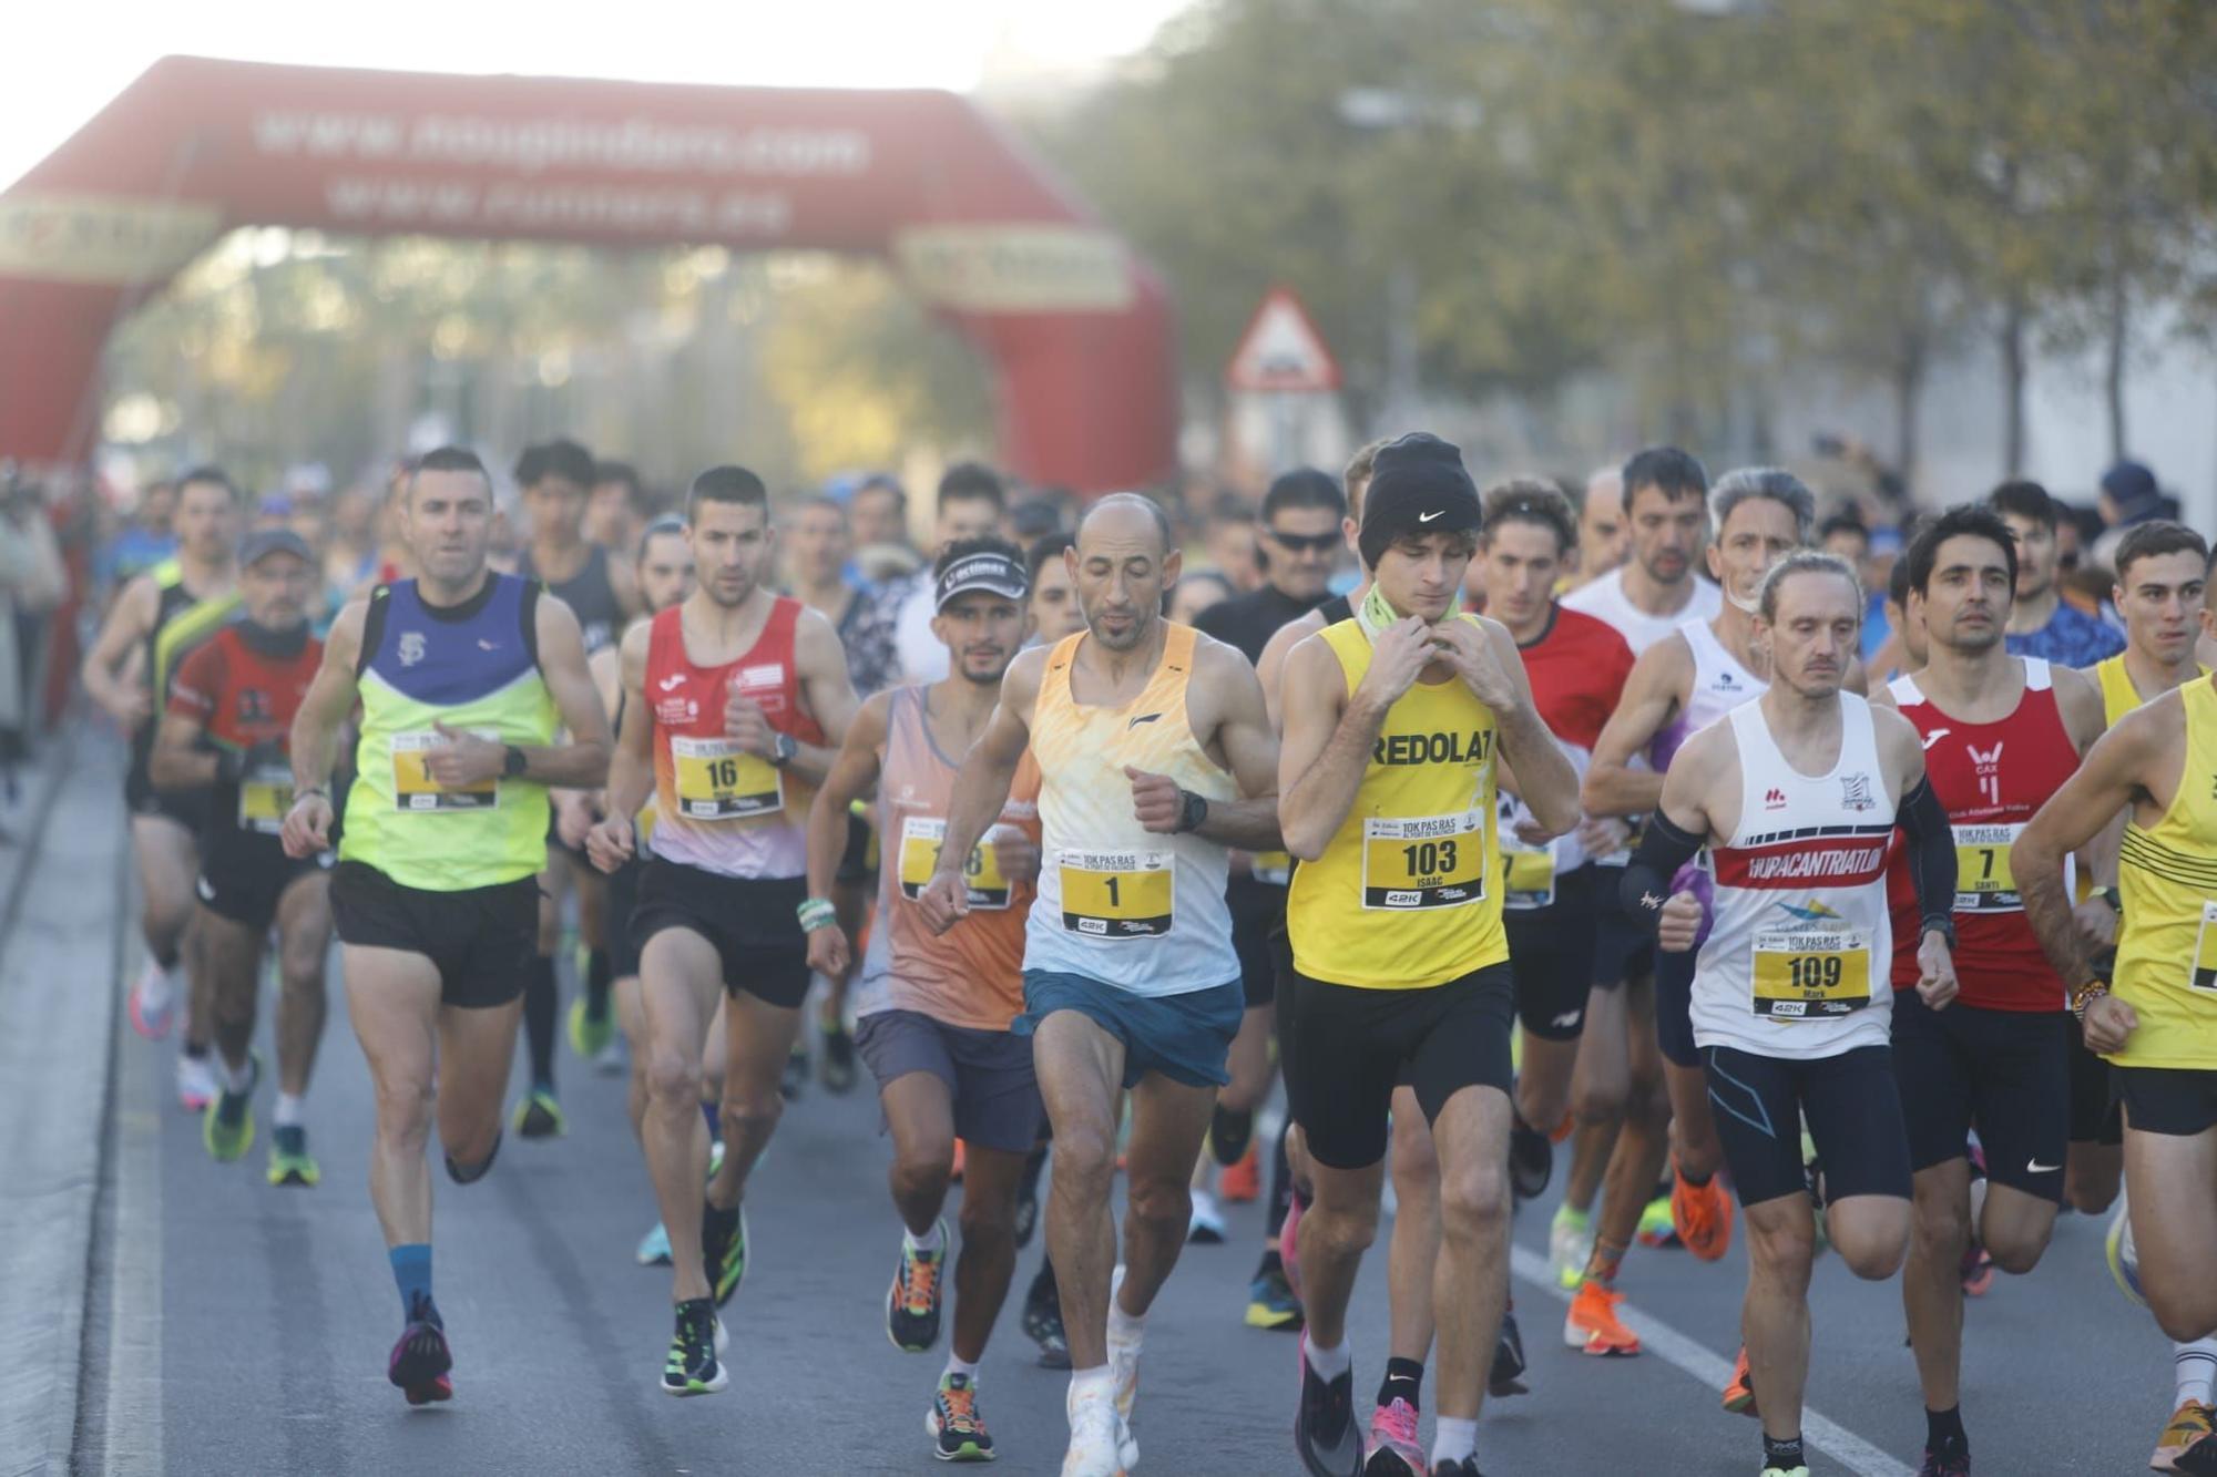
[[[1902,716],[1924,738],[1924,776],[1955,829],[1955,978],[1962,1005],[1989,1011],[2060,1011],[2064,987],[2040,951],[2009,872],[2009,845],[2042,801],[2077,770],[2077,747],[2055,705],[2049,663],[2020,656],[2024,696],[2000,723],[1940,712],[1913,676],[1889,683]],[[1893,987],[1918,982],[1918,898],[1900,838],[1887,876],[1893,907]]]

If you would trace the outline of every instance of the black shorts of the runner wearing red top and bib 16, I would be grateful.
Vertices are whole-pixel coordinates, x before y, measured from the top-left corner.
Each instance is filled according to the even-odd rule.
[[[809,994],[809,936],[798,907],[805,876],[723,876],[650,856],[638,876],[632,938],[641,956],[663,929],[689,929],[716,947],[723,987],[763,1005],[800,1009]]]

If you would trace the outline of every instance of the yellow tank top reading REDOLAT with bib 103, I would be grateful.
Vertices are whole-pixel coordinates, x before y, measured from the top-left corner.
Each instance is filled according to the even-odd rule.
[[[1324,641],[1355,692],[1370,636],[1341,621]],[[1508,960],[1494,741],[1494,712],[1461,679],[1401,694],[1348,818],[1293,874],[1295,969],[1328,985],[1430,989]]]

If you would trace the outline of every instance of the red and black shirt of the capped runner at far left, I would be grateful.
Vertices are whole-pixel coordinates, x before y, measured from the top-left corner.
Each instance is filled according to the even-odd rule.
[[[246,754],[255,745],[286,752],[293,714],[324,663],[324,643],[306,628],[293,636],[233,621],[193,650],[168,690],[168,712],[200,723],[217,750]],[[259,765],[237,785],[217,783],[211,816],[275,836],[293,809],[288,761]]]

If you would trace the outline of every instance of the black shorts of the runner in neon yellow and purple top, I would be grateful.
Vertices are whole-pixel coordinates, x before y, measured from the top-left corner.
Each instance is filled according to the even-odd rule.
[[[341,860],[330,874],[330,920],[339,943],[428,958],[441,1005],[490,1009],[523,994],[539,958],[539,878],[428,892]]]

